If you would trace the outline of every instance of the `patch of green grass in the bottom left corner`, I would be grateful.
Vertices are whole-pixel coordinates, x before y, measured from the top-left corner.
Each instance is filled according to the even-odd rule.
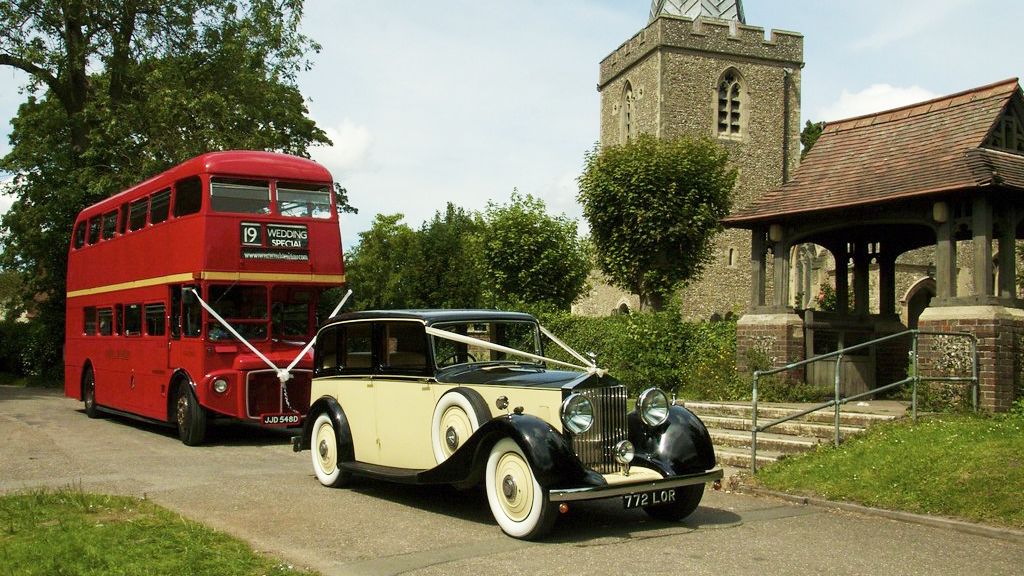
[[[7,574],[309,573],[152,502],[65,489],[0,496],[0,576]]]

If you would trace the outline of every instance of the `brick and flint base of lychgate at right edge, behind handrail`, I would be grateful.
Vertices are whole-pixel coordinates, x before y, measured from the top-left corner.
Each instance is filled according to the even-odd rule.
[[[995,412],[1009,410],[1021,381],[1018,358],[1024,354],[1024,310],[997,305],[929,307],[921,315],[918,327],[973,333],[978,338],[981,379],[978,405]],[[945,372],[946,375],[970,376],[969,371],[963,373],[963,367],[956,368],[959,347],[956,340],[923,335],[918,346],[922,374]]]

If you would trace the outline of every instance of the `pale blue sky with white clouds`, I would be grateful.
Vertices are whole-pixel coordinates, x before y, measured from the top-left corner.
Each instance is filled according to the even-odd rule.
[[[378,213],[417,228],[445,202],[513,189],[578,217],[598,139],[598,64],[649,0],[306,0],[323,50],[299,79],[334,146],[312,156],[349,191],[346,244]],[[1019,0],[748,0],[746,23],[804,35],[804,120],[836,120],[1024,73]],[[0,68],[0,118],[25,78]],[[4,133],[9,124],[0,124]],[[0,140],[0,154],[9,150]],[[9,201],[0,197],[0,210]]]

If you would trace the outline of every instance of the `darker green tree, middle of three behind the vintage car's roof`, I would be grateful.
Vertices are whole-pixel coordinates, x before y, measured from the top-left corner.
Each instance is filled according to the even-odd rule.
[[[417,233],[412,265],[416,297],[422,307],[483,307],[483,235],[478,213],[466,212],[451,202],[444,213],[434,213]]]

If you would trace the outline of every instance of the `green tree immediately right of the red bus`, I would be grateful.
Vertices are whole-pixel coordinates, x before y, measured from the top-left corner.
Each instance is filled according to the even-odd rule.
[[[418,237],[403,214],[377,214],[373,227],[345,254],[345,277],[357,310],[414,307],[416,286],[411,256]]]

